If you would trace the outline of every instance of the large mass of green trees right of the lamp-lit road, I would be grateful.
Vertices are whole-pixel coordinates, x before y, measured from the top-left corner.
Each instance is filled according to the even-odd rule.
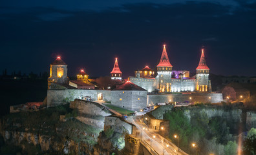
[[[178,134],[180,147],[187,152],[193,152],[193,149],[187,146],[195,142],[201,146],[198,147],[200,154],[210,154],[216,149],[219,151],[215,151],[215,154],[224,154],[224,145],[232,138],[229,134],[229,126],[225,118],[219,116],[209,118],[206,110],[204,110],[205,106],[196,105],[194,108],[197,108],[197,112],[192,114],[187,113],[186,107],[173,108],[173,110],[166,112],[164,119],[169,121],[169,138],[173,139],[173,135]],[[191,118],[189,119],[187,116]],[[176,140],[173,142],[178,144]],[[228,148],[237,147],[231,143],[233,144],[231,141],[226,146],[227,151]]]

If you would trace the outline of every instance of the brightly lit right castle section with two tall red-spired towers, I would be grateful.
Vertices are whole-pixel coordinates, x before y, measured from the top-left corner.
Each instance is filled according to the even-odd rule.
[[[204,50],[202,50],[202,56],[200,57],[200,62],[197,67],[196,78],[190,78],[189,71],[187,70],[173,70],[165,45],[160,62],[156,68],[157,76],[155,76],[155,74],[152,76],[145,76],[145,70],[138,70],[135,71],[135,77],[130,77],[129,80],[134,84],[145,88],[148,92],[153,92],[154,90],[158,90],[158,92],[162,93],[211,92],[209,68],[206,66]],[[151,70],[151,72],[154,71]]]

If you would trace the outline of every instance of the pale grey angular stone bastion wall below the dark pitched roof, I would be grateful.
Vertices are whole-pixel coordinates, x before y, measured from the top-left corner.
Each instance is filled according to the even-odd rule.
[[[112,90],[111,104],[129,110],[140,110],[147,107],[147,91]]]

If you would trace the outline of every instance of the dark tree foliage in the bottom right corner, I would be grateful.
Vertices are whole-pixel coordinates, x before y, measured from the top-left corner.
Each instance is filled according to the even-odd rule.
[[[244,140],[243,154],[255,155],[256,154],[256,129],[251,128]]]

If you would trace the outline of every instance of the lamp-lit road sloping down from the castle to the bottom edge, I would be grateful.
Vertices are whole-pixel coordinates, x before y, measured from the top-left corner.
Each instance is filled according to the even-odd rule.
[[[136,134],[136,138],[146,141],[158,154],[187,155],[185,152],[176,147],[176,145],[157,134],[155,130],[149,129],[142,119],[140,119],[140,116],[131,117],[128,119],[128,121],[136,125],[136,127],[140,130],[140,132]]]

